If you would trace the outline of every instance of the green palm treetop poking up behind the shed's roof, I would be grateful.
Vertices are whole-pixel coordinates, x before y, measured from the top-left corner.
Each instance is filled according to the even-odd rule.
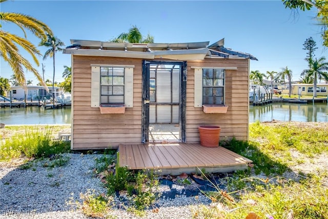
[[[154,37],[150,34],[147,37],[142,37],[139,28],[132,26],[128,33],[121,33],[117,38],[112,39],[110,42],[115,43],[154,43]]]

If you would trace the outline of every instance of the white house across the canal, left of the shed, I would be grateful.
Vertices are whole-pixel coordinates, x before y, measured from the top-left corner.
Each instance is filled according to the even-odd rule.
[[[10,87],[11,98],[12,99],[25,99],[25,94],[27,99],[43,99],[44,97],[51,97],[52,87],[48,87],[49,92],[43,86],[27,86],[27,93],[22,86],[12,86]],[[59,96],[63,93],[60,87],[54,87],[55,96]],[[10,93],[7,94],[10,97]]]

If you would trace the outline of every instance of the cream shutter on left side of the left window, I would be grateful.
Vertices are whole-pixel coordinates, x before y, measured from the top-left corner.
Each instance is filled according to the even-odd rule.
[[[91,107],[99,107],[100,102],[100,67],[91,66]]]

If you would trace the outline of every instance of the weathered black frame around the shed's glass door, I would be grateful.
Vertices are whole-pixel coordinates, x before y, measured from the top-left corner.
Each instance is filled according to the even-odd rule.
[[[179,141],[186,143],[187,62],[142,61],[141,143],[149,143],[150,65],[180,66]]]

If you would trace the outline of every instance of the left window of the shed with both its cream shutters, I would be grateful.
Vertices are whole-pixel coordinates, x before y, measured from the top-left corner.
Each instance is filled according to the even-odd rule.
[[[91,65],[91,107],[125,104],[133,107],[134,66]]]

